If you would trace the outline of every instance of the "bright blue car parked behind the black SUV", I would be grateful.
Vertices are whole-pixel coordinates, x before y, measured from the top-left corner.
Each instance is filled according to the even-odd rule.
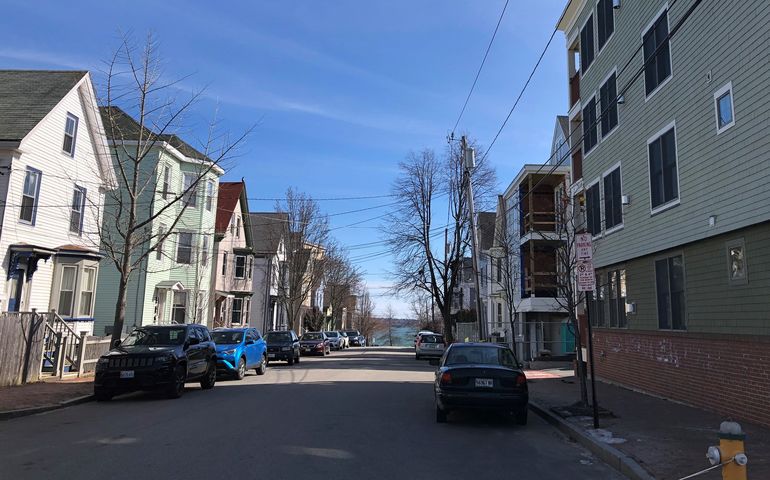
[[[256,328],[218,328],[211,333],[217,348],[217,373],[241,380],[246,370],[267,371],[267,344]]]

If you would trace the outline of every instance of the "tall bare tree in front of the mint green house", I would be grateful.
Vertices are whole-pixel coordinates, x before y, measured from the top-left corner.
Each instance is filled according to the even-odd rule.
[[[232,157],[251,129],[230,138],[219,132],[213,121],[207,138],[197,149],[174,135],[172,131],[182,127],[185,115],[199,99],[200,92],[192,93],[182,101],[170,95],[178,82],[164,80],[157,43],[151,35],[141,49],[129,37],[124,37],[108,61],[105,73],[102,119],[112,148],[116,185],[105,194],[100,247],[119,276],[112,332],[114,342],[123,332],[127,289],[132,275],[146,270],[148,257],[170,235],[177,233],[188,206],[193,201],[200,201],[198,192],[202,184]],[[133,118],[118,105],[125,105],[132,111]],[[180,150],[195,166],[179,193],[161,188],[163,172],[156,155],[161,144]],[[163,230],[157,229],[161,221],[165,225]],[[214,232],[199,233],[213,236]],[[191,256],[195,250],[191,245]]]

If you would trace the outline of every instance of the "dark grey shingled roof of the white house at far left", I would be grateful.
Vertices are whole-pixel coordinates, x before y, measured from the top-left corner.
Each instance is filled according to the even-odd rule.
[[[85,70],[0,70],[0,140],[21,141],[86,74]]]

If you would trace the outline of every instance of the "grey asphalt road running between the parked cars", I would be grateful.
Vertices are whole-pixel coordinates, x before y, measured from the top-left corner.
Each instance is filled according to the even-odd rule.
[[[2,479],[619,479],[530,412],[437,424],[432,368],[382,348],[0,423]]]

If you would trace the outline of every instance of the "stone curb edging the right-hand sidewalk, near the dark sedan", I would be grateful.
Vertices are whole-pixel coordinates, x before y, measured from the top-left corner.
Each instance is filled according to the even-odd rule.
[[[655,480],[655,477],[650,475],[636,463],[634,459],[625,453],[610,445],[595,440],[577,426],[567,422],[554,413],[551,413],[549,409],[537,402],[533,402],[531,399],[529,401],[529,409],[541,416],[546,422],[559,429],[569,438],[587,448],[604,463],[625,475],[627,478],[630,478],[631,480]]]

